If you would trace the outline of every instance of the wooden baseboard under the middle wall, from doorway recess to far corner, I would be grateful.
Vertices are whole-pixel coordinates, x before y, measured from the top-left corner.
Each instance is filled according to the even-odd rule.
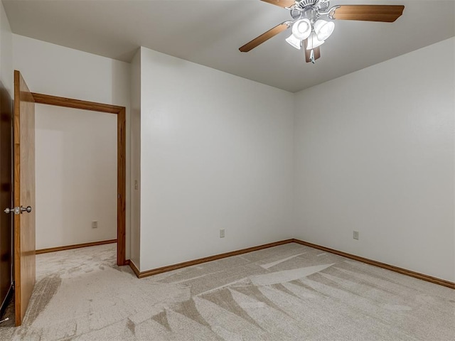
[[[196,265],[196,264],[206,263],[208,261],[216,261],[217,259],[238,256],[239,254],[247,254],[248,252],[267,249],[269,247],[277,247],[279,245],[291,243],[292,240],[293,239],[286,239],[286,240],[282,240],[280,242],[259,245],[257,247],[248,247],[247,249],[230,251],[230,252],[226,252],[225,254],[215,254],[215,256],[208,256],[208,257],[204,257],[204,258],[200,258],[200,259],[194,259],[193,261],[184,261],[183,263],[162,266],[161,268],[151,269],[151,270],[142,271],[142,272],[139,271],[136,267],[134,267],[134,268],[132,267],[132,269],[134,271],[134,274],[136,274],[136,276],[138,278],[144,278],[147,276],[161,274],[161,273],[167,272],[167,271],[186,268],[186,266],[192,266],[192,265]],[[130,266],[131,266],[131,263],[130,263]]]

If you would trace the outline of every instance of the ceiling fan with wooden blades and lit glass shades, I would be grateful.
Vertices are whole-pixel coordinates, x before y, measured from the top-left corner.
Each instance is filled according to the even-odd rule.
[[[239,50],[248,52],[278,33],[292,27],[286,41],[294,48],[305,50],[306,63],[321,57],[320,45],[333,33],[333,20],[382,21],[397,20],[405,6],[402,5],[336,5],[329,7],[329,0],[261,0],[291,11],[292,20],[284,21],[243,45]],[[320,17],[324,16],[328,20]]]

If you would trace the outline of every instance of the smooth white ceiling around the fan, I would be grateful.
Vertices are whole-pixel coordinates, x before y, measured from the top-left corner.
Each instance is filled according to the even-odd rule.
[[[455,36],[455,1],[331,1],[403,4],[395,23],[336,21],[315,65],[284,40],[238,48],[289,11],[259,0],[2,0],[11,31],[129,62],[142,45],[233,75],[296,92]],[[428,63],[437,63],[429,55]],[[416,70],[418,72],[418,70]]]

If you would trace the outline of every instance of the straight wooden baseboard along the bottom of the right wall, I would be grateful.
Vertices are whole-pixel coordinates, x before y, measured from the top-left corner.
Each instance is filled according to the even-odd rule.
[[[455,289],[455,283],[451,282],[451,281],[446,281],[445,279],[441,279],[441,278],[437,278],[437,277],[433,277],[433,276],[428,276],[428,275],[425,275],[425,274],[420,274],[419,272],[415,272],[415,271],[411,271],[411,270],[407,270],[407,269],[402,269],[402,268],[399,268],[398,266],[393,266],[393,265],[390,265],[390,264],[381,263],[380,261],[373,261],[372,259],[368,259],[368,258],[364,258],[364,257],[360,257],[360,256],[355,256],[355,254],[348,254],[348,253],[343,252],[343,251],[330,249],[328,247],[322,247],[321,245],[312,244],[312,243],[309,243],[309,242],[304,242],[303,240],[300,240],[300,239],[293,239],[293,242],[297,243],[297,244],[305,245],[306,247],[312,247],[314,249],[327,251],[327,252],[330,252],[331,254],[338,254],[338,256],[343,256],[343,257],[346,257],[346,258],[349,258],[349,259],[354,259],[355,261],[361,261],[362,263],[370,264],[370,265],[373,265],[373,266],[378,266],[378,267],[380,267],[382,269],[387,269],[387,270],[390,270],[390,271],[394,271],[394,272],[397,272],[399,274],[403,274],[403,275],[411,276],[411,277],[414,277],[414,278],[422,279],[423,281],[431,282],[431,283],[434,283],[434,284],[439,284],[439,286],[446,286],[447,288]]]

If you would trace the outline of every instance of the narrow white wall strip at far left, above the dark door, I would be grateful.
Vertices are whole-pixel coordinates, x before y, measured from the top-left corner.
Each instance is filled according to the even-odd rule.
[[[13,35],[0,1],[0,80],[13,97]]]

